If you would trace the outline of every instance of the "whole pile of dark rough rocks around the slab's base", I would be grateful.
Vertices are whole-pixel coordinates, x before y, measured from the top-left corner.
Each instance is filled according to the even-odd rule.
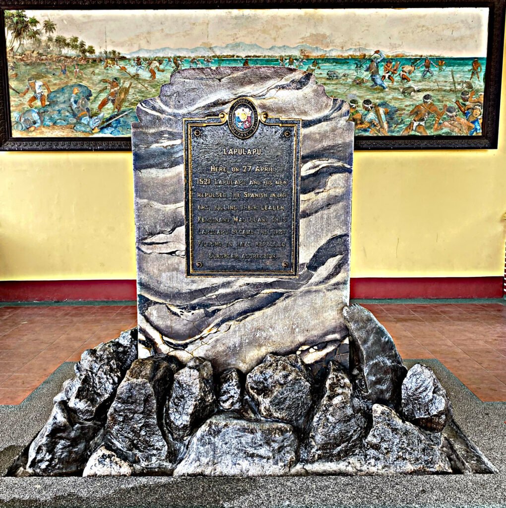
[[[166,355],[136,360],[136,333],[124,332],[83,353],[12,472],[461,472],[449,434],[441,434],[451,405],[431,369],[406,371],[366,309],[347,307],[344,316],[350,366],[334,359],[322,378],[298,355],[269,354],[248,373],[214,372],[201,358],[186,365]]]

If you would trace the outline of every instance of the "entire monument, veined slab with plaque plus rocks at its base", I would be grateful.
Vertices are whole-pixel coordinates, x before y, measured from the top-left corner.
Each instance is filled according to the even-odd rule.
[[[138,330],[83,353],[9,474],[495,471],[349,305],[346,103],[303,71],[188,69],[137,116]]]

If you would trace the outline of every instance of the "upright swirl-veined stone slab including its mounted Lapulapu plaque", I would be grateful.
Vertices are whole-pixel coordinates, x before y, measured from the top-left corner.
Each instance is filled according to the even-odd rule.
[[[139,356],[249,371],[269,353],[335,348],[350,290],[347,104],[299,70],[186,69],[137,116]]]

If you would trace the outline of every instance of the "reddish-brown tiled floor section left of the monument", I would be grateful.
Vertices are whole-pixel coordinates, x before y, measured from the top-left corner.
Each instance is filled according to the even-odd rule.
[[[62,362],[134,326],[133,306],[0,307],[0,404],[19,404]]]

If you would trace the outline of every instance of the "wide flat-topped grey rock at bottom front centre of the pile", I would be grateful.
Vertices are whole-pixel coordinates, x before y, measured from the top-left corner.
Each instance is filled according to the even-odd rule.
[[[278,476],[290,471],[296,457],[297,438],[290,425],[225,413],[195,433],[174,476]]]

